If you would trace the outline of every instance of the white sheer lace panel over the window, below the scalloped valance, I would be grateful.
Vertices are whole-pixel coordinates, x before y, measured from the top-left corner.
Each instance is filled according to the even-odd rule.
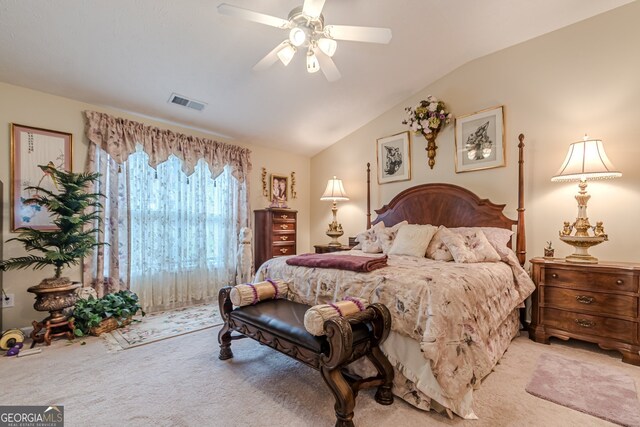
[[[151,312],[211,301],[235,281],[245,186],[229,167],[212,179],[202,159],[189,177],[175,156],[148,162],[141,150],[126,161],[131,290]]]

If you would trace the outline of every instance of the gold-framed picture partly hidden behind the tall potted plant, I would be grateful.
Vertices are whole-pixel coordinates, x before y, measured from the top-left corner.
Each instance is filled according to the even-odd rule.
[[[56,229],[45,208],[24,201],[36,194],[29,186],[56,191],[51,177],[38,165],[71,171],[71,145],[70,133],[11,124],[11,231],[20,227]]]

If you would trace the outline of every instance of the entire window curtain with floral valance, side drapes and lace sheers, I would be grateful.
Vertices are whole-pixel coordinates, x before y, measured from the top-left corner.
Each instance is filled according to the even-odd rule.
[[[85,259],[85,286],[100,296],[131,289],[155,311],[233,284],[238,234],[249,223],[249,150],[86,115],[87,169],[102,174],[99,226],[109,246]],[[136,140],[146,144],[129,144]]]

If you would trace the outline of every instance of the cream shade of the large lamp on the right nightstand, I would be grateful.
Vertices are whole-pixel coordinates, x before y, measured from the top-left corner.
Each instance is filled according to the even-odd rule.
[[[621,176],[622,173],[615,170],[604,152],[602,141],[585,136],[584,141],[569,146],[567,157],[551,181],[586,181]]]

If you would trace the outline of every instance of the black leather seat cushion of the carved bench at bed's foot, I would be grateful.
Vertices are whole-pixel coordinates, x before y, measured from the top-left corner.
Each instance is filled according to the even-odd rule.
[[[327,354],[327,338],[315,337],[304,328],[304,314],[310,308],[311,306],[306,304],[278,299],[238,307],[229,315],[316,353]],[[367,323],[352,325],[352,328],[354,344],[369,339],[370,327]]]

